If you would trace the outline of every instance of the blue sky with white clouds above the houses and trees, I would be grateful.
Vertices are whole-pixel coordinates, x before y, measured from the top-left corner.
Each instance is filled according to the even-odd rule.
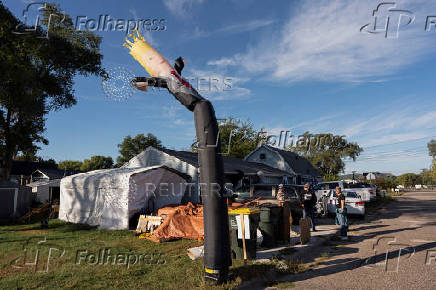
[[[20,16],[29,1],[5,0]],[[428,1],[427,1],[428,2]],[[73,16],[165,19],[166,30],[144,32],[169,60],[183,56],[183,75],[200,81],[218,118],[250,119],[270,134],[289,130],[343,134],[364,152],[347,162],[356,170],[400,174],[428,168],[426,143],[436,138],[436,28],[426,31],[436,3],[396,1],[413,13],[397,38],[360,28],[379,1],[56,1]],[[410,15],[410,14],[409,14]],[[125,33],[98,32],[105,68],[145,70],[122,46]],[[209,91],[208,81],[218,81]],[[225,78],[231,89],[223,90]],[[164,145],[186,149],[194,139],[192,113],[167,92],[135,92],[115,102],[101,79],[76,78],[78,104],[50,113],[39,154],[57,161],[118,155],[126,135],[153,133]]]

